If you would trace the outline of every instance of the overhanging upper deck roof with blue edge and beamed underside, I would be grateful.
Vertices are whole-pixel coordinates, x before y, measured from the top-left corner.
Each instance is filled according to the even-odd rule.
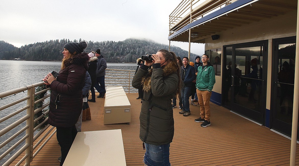
[[[189,12],[173,26],[170,26],[168,40],[188,42],[188,30],[191,28],[191,42],[205,43],[205,38],[221,33],[222,31],[253,22],[260,22],[266,18],[284,15],[290,10],[297,10],[297,0],[238,0],[232,3],[221,0],[209,0],[192,11],[191,15],[193,16],[191,16],[191,20],[196,14],[199,15],[199,12],[204,13],[210,10],[209,7],[211,5],[219,6],[221,3],[226,4],[225,7],[182,26],[182,22],[190,22]]]

